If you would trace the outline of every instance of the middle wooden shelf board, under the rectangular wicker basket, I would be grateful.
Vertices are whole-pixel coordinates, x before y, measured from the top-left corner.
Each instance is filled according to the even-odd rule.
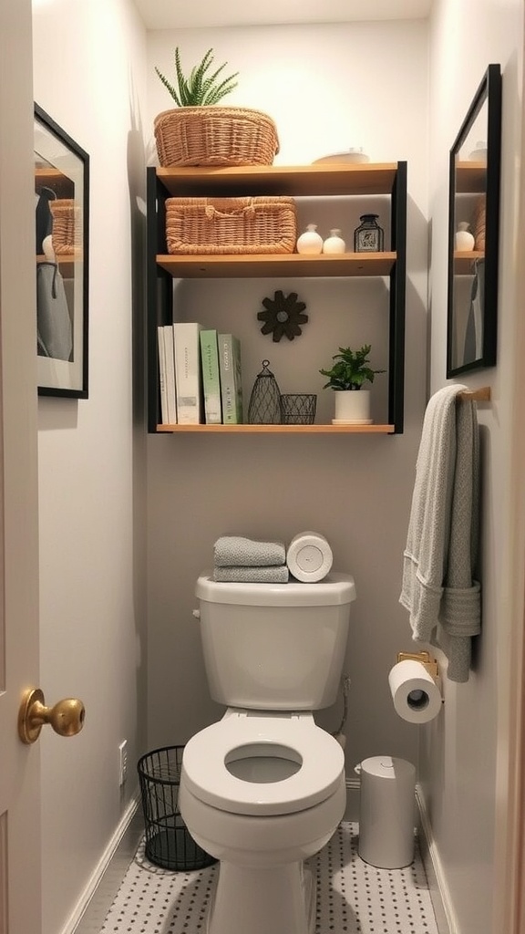
[[[281,255],[172,256],[157,263],[180,278],[236,278],[257,276],[390,276],[395,253],[343,253],[308,256]]]

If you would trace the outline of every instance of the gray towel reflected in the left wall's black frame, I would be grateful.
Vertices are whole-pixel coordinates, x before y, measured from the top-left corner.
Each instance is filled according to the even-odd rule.
[[[39,356],[70,360],[73,330],[64,279],[56,262],[36,265],[36,319]]]

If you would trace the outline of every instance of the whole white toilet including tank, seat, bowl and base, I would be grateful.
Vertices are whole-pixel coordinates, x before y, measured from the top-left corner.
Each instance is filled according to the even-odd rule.
[[[304,861],[346,806],[345,760],[313,712],[336,700],[355,585],[217,583],[195,589],[206,676],[222,719],[186,744],[178,804],[220,860],[208,934],[313,934]]]

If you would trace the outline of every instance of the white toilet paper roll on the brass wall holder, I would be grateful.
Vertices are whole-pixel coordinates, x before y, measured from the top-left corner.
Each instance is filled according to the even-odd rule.
[[[389,684],[395,712],[407,723],[429,723],[439,714],[441,691],[420,661],[398,661],[390,671]]]

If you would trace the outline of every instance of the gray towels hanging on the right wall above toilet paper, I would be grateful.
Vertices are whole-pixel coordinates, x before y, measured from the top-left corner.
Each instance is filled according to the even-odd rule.
[[[472,637],[480,631],[478,426],[464,386],[436,392],[425,412],[404,549],[401,603],[413,638],[443,649],[451,681],[468,680]]]

